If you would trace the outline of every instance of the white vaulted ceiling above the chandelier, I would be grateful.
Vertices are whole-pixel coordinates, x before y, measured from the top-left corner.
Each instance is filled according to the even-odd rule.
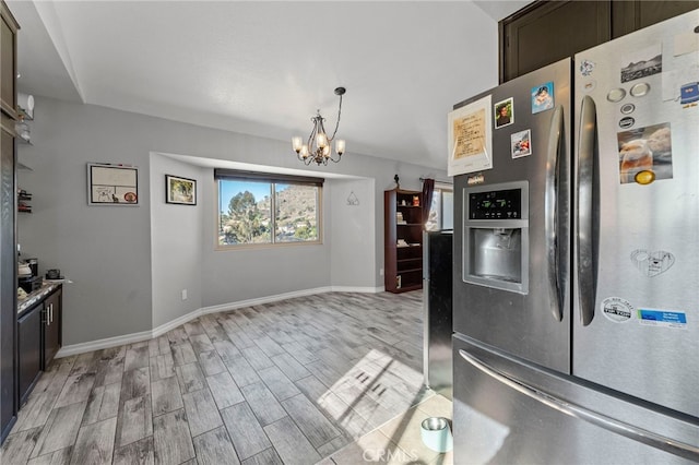
[[[22,92],[253,135],[337,136],[446,169],[447,114],[497,84],[497,21],[529,1],[28,1]],[[289,154],[292,154],[289,142]]]

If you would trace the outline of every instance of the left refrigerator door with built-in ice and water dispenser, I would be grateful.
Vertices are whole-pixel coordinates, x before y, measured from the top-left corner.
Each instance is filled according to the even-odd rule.
[[[562,372],[570,370],[571,64],[561,60],[455,106],[490,95],[495,108],[510,100],[513,114],[507,126],[493,122],[493,169],[454,177],[454,332]],[[554,100],[544,111],[535,100],[542,87]],[[519,156],[528,132],[529,155]],[[496,270],[520,252],[507,273]]]

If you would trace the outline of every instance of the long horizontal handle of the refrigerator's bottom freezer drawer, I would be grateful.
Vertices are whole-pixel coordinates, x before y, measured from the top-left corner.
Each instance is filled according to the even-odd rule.
[[[496,379],[502,384],[518,391],[528,397],[541,402],[542,404],[555,408],[556,410],[570,415],[571,417],[579,418],[588,421],[608,431],[616,432],[626,438],[642,442],[653,448],[661,449],[663,451],[673,453],[687,458],[697,458],[699,454],[699,448],[697,445],[687,444],[685,442],[676,441],[662,434],[654,433],[643,428],[629,425],[625,421],[617,420],[597,412],[590,410],[577,404],[558,398],[547,392],[541,391],[522,380],[514,379],[482,361],[477,357],[469,354],[464,349],[459,349],[461,358],[466,360],[473,367],[477,368],[485,374]]]

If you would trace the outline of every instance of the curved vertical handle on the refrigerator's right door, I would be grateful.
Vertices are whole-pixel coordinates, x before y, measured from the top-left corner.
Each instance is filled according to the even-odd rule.
[[[578,145],[578,301],[583,326],[594,318],[596,301],[599,250],[595,225],[599,208],[594,208],[595,181],[599,160],[596,159],[597,116],[594,100],[587,95],[580,110],[580,136]]]

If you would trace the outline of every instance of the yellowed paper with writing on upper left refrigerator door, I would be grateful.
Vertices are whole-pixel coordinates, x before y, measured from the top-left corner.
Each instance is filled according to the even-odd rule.
[[[493,114],[490,96],[449,114],[448,176],[493,168]]]

